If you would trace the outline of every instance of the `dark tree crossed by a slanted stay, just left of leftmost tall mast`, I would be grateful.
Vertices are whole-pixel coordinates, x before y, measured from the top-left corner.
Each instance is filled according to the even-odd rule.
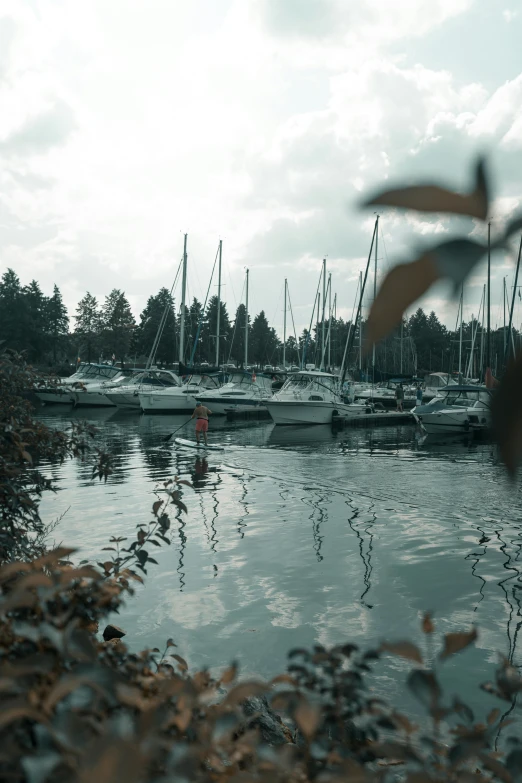
[[[163,322],[165,313],[166,318]],[[176,358],[174,299],[166,288],[161,288],[155,296],[149,296],[145,309],[140,315],[140,323],[134,330],[132,351],[148,358],[162,322],[161,338],[156,348],[154,360],[166,364],[173,362]]]

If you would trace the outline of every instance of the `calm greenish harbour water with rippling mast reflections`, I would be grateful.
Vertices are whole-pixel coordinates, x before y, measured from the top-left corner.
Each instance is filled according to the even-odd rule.
[[[114,457],[106,484],[79,462],[47,468],[59,491],[43,516],[63,515],[53,535],[82,557],[103,559],[111,535],[134,537],[166,479],[194,483],[188,515],[171,514],[172,545],[151,552],[158,565],[115,618],[131,648],[173,637],[192,667],[237,658],[243,673],[271,676],[296,646],[423,646],[419,619],[431,610],[438,632],[479,628],[476,646],[441,677],[481,711],[497,706],[477,689],[493,678],[497,653],[522,663],[520,486],[509,486],[493,445],[419,443],[410,426],[333,434],[215,419],[211,437],[225,450],[201,459],[161,445],[184,417],[40,415],[53,426],[93,421]],[[390,698],[413,709],[402,684],[409,665],[380,666]]]

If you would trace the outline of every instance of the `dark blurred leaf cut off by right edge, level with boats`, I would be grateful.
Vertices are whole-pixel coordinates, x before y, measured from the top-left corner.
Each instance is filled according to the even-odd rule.
[[[511,361],[491,403],[493,434],[511,478],[522,457],[522,354]]]

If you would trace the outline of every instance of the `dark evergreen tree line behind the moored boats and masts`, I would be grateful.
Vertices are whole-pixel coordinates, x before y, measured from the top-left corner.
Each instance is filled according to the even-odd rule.
[[[219,364],[243,366],[245,357],[247,313],[240,304],[231,319],[224,302],[220,307]],[[185,307],[186,364],[216,363],[218,298],[212,297],[206,307],[196,298]],[[141,364],[148,360],[156,335],[162,324],[154,362],[173,365],[179,360],[180,317],[175,301],[166,288],[151,295],[139,321],[136,322],[125,292],[113,289],[103,302],[87,292],[70,316],[57,285],[51,296],[45,296],[36,280],[22,285],[18,275],[8,269],[0,280],[0,340],[4,347],[24,351],[34,363],[59,366],[86,362],[117,361],[121,364]],[[288,336],[286,346],[270,326],[262,310],[253,319],[248,317],[248,361],[254,365],[313,364],[340,367],[347,338],[353,328],[342,318],[318,321],[311,331]],[[395,332],[376,346],[375,370],[372,353],[364,354],[365,323],[352,334],[353,347],[347,357],[348,367],[356,376],[386,377],[393,374],[425,374],[456,372],[459,366],[470,368],[472,377],[480,377],[484,364],[484,337],[476,321],[464,323],[462,341],[460,328],[449,330],[434,312],[426,314],[419,308],[404,319]],[[491,335],[493,368],[498,367],[505,353],[507,330],[494,330]],[[518,350],[519,334],[509,338]],[[285,349],[285,350],[283,350]],[[470,364],[471,358],[471,364]]]

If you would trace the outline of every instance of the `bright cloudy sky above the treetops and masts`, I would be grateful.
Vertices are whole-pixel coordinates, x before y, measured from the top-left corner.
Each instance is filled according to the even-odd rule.
[[[521,37],[519,0],[0,0],[0,274],[57,283],[71,315],[87,290],[120,288],[138,317],[187,233],[190,298],[205,299],[222,239],[231,314],[248,267],[250,313],[281,333],[287,278],[301,331],[326,258],[350,317],[375,219],[364,195],[469,188],[484,154],[492,235],[522,207]],[[486,230],[386,210],[380,229],[378,279]],[[518,241],[492,261],[494,324]],[[465,318],[485,277],[468,280]],[[455,325],[445,284],[419,304]]]

